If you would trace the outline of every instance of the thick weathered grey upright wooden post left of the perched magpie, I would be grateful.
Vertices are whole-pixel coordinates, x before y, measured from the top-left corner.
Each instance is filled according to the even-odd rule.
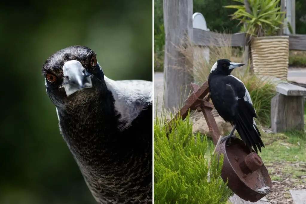
[[[179,109],[190,92],[193,82],[192,61],[180,52],[192,42],[192,7],[190,0],[163,0],[165,27],[165,108]],[[184,97],[185,95],[185,97]]]

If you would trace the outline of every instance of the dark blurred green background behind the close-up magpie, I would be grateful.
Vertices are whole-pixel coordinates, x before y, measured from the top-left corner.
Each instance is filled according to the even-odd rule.
[[[71,45],[114,80],[152,80],[152,1],[0,5],[0,204],[94,204],[58,130],[41,68]]]

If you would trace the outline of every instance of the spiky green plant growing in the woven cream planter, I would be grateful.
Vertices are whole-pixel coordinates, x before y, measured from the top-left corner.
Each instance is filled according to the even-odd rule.
[[[239,24],[246,24],[241,27],[242,32],[251,36],[277,35],[280,25],[283,24],[285,12],[281,12],[280,0],[248,0],[251,13],[246,11],[244,0],[233,0],[242,5],[224,6],[225,8],[237,9],[232,19],[239,20]]]

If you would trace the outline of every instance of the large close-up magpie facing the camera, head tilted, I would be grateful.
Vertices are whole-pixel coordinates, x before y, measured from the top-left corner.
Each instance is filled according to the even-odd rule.
[[[111,80],[85,46],[43,64],[59,129],[98,203],[152,203],[151,81]]]

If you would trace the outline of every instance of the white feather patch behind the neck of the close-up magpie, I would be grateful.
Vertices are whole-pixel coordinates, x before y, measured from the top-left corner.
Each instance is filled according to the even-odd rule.
[[[124,126],[118,127],[121,131],[128,128],[139,113],[146,108],[144,101],[153,100],[153,85],[144,80],[111,80],[104,76],[108,90],[115,99],[115,109],[121,114],[120,120]]]

